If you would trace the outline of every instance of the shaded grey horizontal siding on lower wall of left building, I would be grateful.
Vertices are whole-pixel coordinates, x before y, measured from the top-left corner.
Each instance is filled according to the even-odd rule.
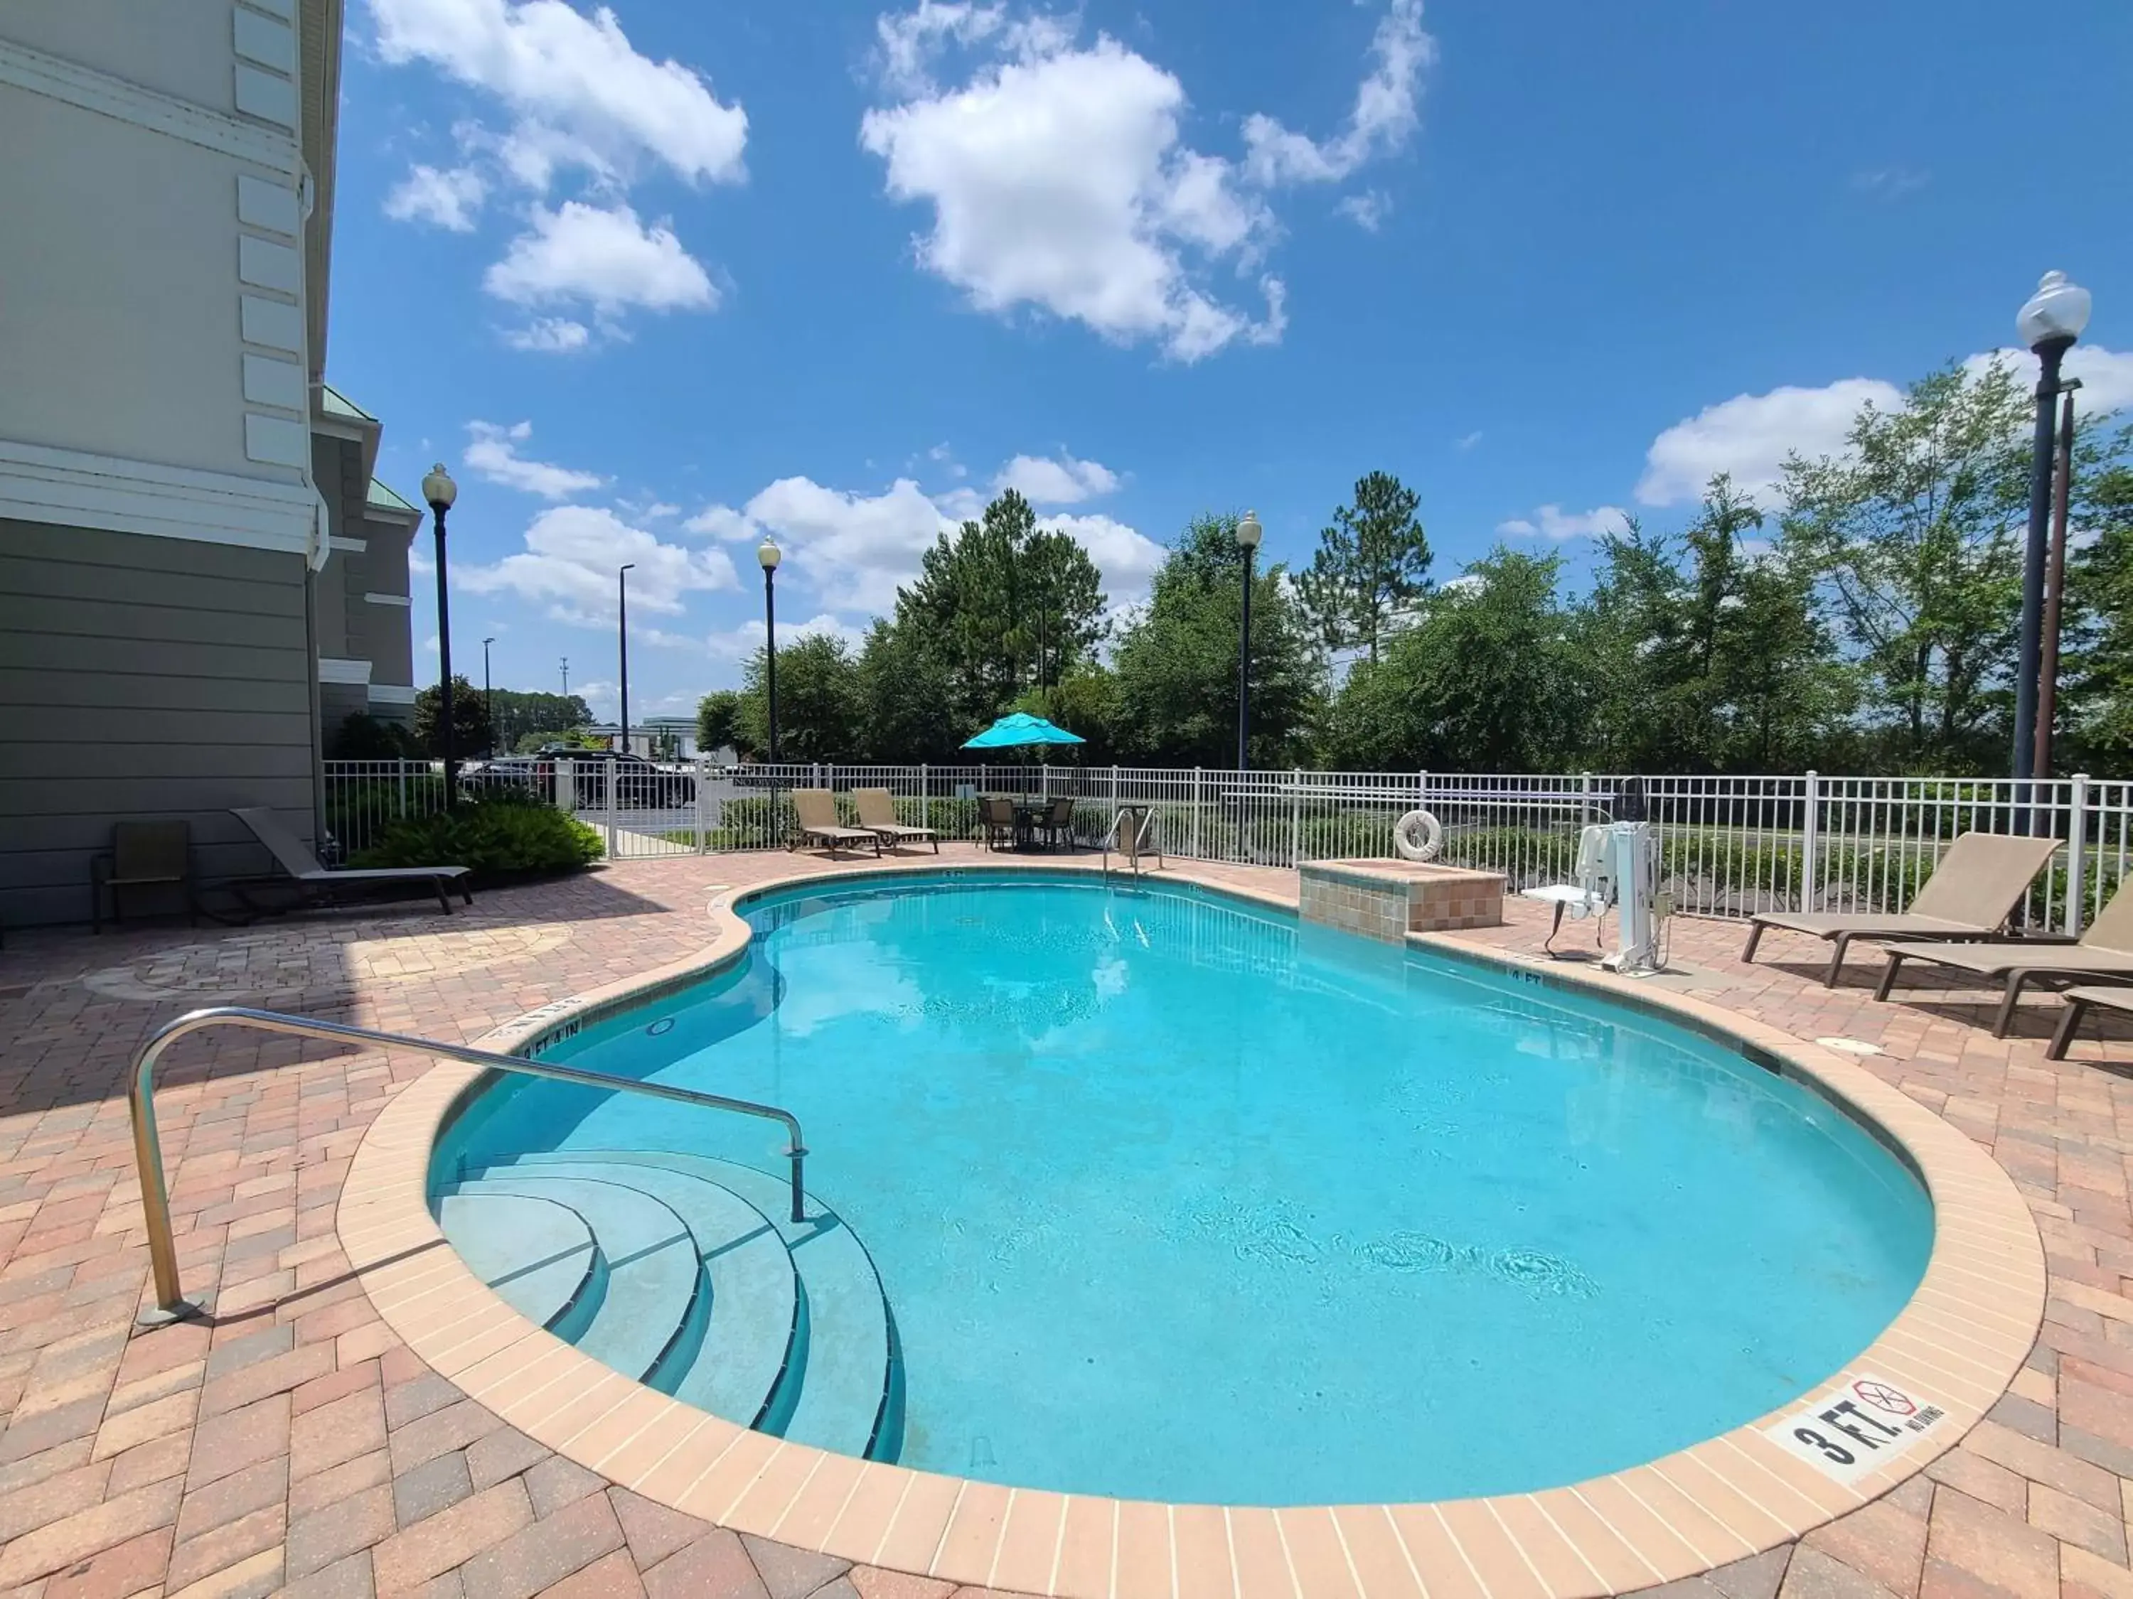
[[[303,559],[0,520],[0,921],[90,915],[117,819],[192,823],[201,878],[267,870],[226,812],[314,831]]]

